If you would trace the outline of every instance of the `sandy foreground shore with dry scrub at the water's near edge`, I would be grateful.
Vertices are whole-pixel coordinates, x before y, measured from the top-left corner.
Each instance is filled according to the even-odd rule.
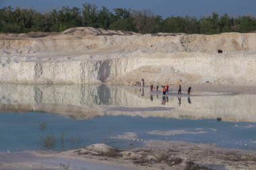
[[[62,153],[0,153],[0,169],[256,169],[256,152],[209,144],[150,140],[141,148],[105,144]]]

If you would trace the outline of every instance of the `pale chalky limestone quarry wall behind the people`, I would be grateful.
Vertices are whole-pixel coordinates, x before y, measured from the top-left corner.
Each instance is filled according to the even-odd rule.
[[[218,54],[217,50],[223,53]],[[0,34],[1,83],[256,85],[256,33],[137,34],[94,28]]]

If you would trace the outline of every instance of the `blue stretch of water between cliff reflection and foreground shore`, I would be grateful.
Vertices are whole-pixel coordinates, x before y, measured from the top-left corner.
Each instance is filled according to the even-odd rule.
[[[152,134],[154,130],[158,132]],[[185,133],[173,134],[181,130]],[[125,132],[133,132],[137,136],[129,139],[115,138]],[[171,133],[162,135],[161,132]],[[1,113],[0,151],[46,149],[67,151],[94,143],[128,148],[143,145],[141,140],[155,139],[215,143],[222,147],[256,150],[255,132],[256,123],[251,122],[141,118],[139,116],[102,116],[90,120],[75,120],[44,112]],[[54,146],[44,147],[42,136],[47,135],[54,136]]]

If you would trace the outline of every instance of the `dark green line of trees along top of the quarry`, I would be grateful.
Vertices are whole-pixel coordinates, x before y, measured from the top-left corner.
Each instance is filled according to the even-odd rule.
[[[228,14],[205,17],[170,16],[165,19],[151,11],[132,11],[115,8],[111,12],[106,7],[84,3],[82,9],[64,6],[40,13],[31,8],[3,7],[0,9],[0,32],[63,32],[74,27],[123,30],[141,34],[186,33],[220,34],[222,32],[255,32],[256,18],[253,16],[230,17]]]

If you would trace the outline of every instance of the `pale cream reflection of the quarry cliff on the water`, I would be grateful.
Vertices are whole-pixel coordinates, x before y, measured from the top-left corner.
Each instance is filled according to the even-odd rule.
[[[170,91],[162,96],[161,91],[150,93],[150,89],[141,87],[0,85],[0,112],[40,111],[76,119],[127,115],[256,122],[255,101],[256,95],[246,94],[181,97]]]

